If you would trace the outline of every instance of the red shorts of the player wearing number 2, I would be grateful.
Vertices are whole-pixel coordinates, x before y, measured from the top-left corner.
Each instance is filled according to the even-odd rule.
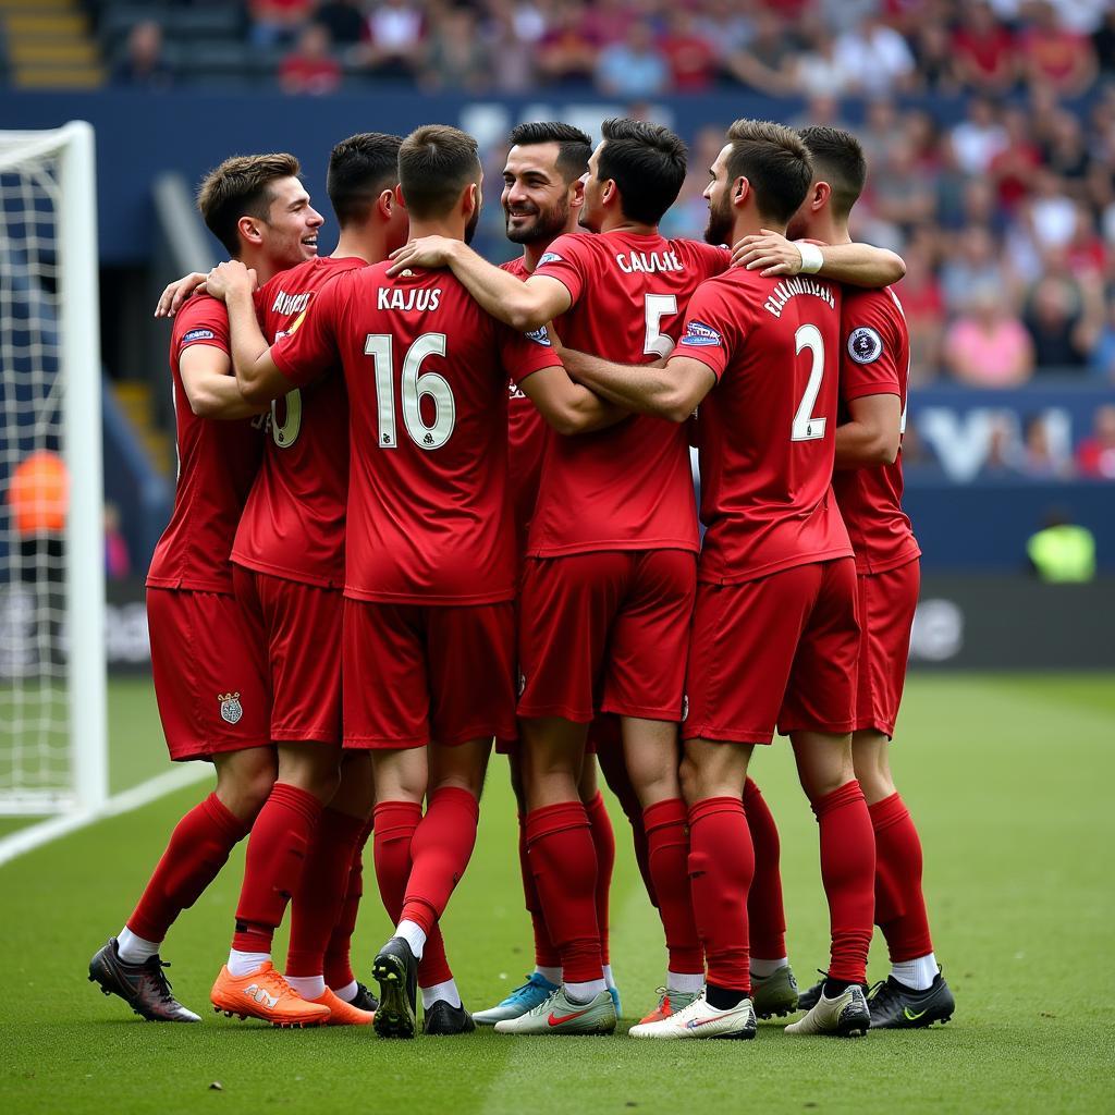
[[[682,738],[769,744],[776,728],[851,731],[855,594],[851,558],[699,584]]]

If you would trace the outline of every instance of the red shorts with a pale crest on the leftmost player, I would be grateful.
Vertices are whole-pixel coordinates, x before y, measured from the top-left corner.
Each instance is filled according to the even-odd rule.
[[[270,745],[271,697],[235,597],[148,589],[147,628],[172,759]]]

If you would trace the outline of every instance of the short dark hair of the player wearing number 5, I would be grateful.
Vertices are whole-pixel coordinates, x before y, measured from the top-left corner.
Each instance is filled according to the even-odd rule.
[[[647,120],[613,117],[600,125],[604,146],[597,176],[620,187],[623,215],[658,224],[686,181],[686,145],[669,128]]]

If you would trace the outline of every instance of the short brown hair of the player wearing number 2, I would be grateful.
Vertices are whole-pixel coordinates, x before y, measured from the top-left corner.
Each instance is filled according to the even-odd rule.
[[[736,120],[728,128],[728,182],[747,178],[763,216],[785,224],[813,180],[809,152],[792,128],[773,120]]]

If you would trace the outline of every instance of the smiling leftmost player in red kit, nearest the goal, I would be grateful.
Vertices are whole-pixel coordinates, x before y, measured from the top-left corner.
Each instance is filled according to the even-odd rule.
[[[293,155],[236,156],[198,191],[210,231],[264,281],[317,255],[322,219],[298,173]],[[216,788],[178,822],[124,929],[89,963],[89,979],[106,995],[155,1021],[198,1020],[174,998],[159,947],[258,820],[275,780],[269,688],[229,560],[259,468],[266,408],[244,400],[230,353],[224,307],[191,299],[171,336],[174,513],[147,575],[152,672],[171,758],[211,762]],[[277,1020],[301,1004],[289,988],[277,998]]]

